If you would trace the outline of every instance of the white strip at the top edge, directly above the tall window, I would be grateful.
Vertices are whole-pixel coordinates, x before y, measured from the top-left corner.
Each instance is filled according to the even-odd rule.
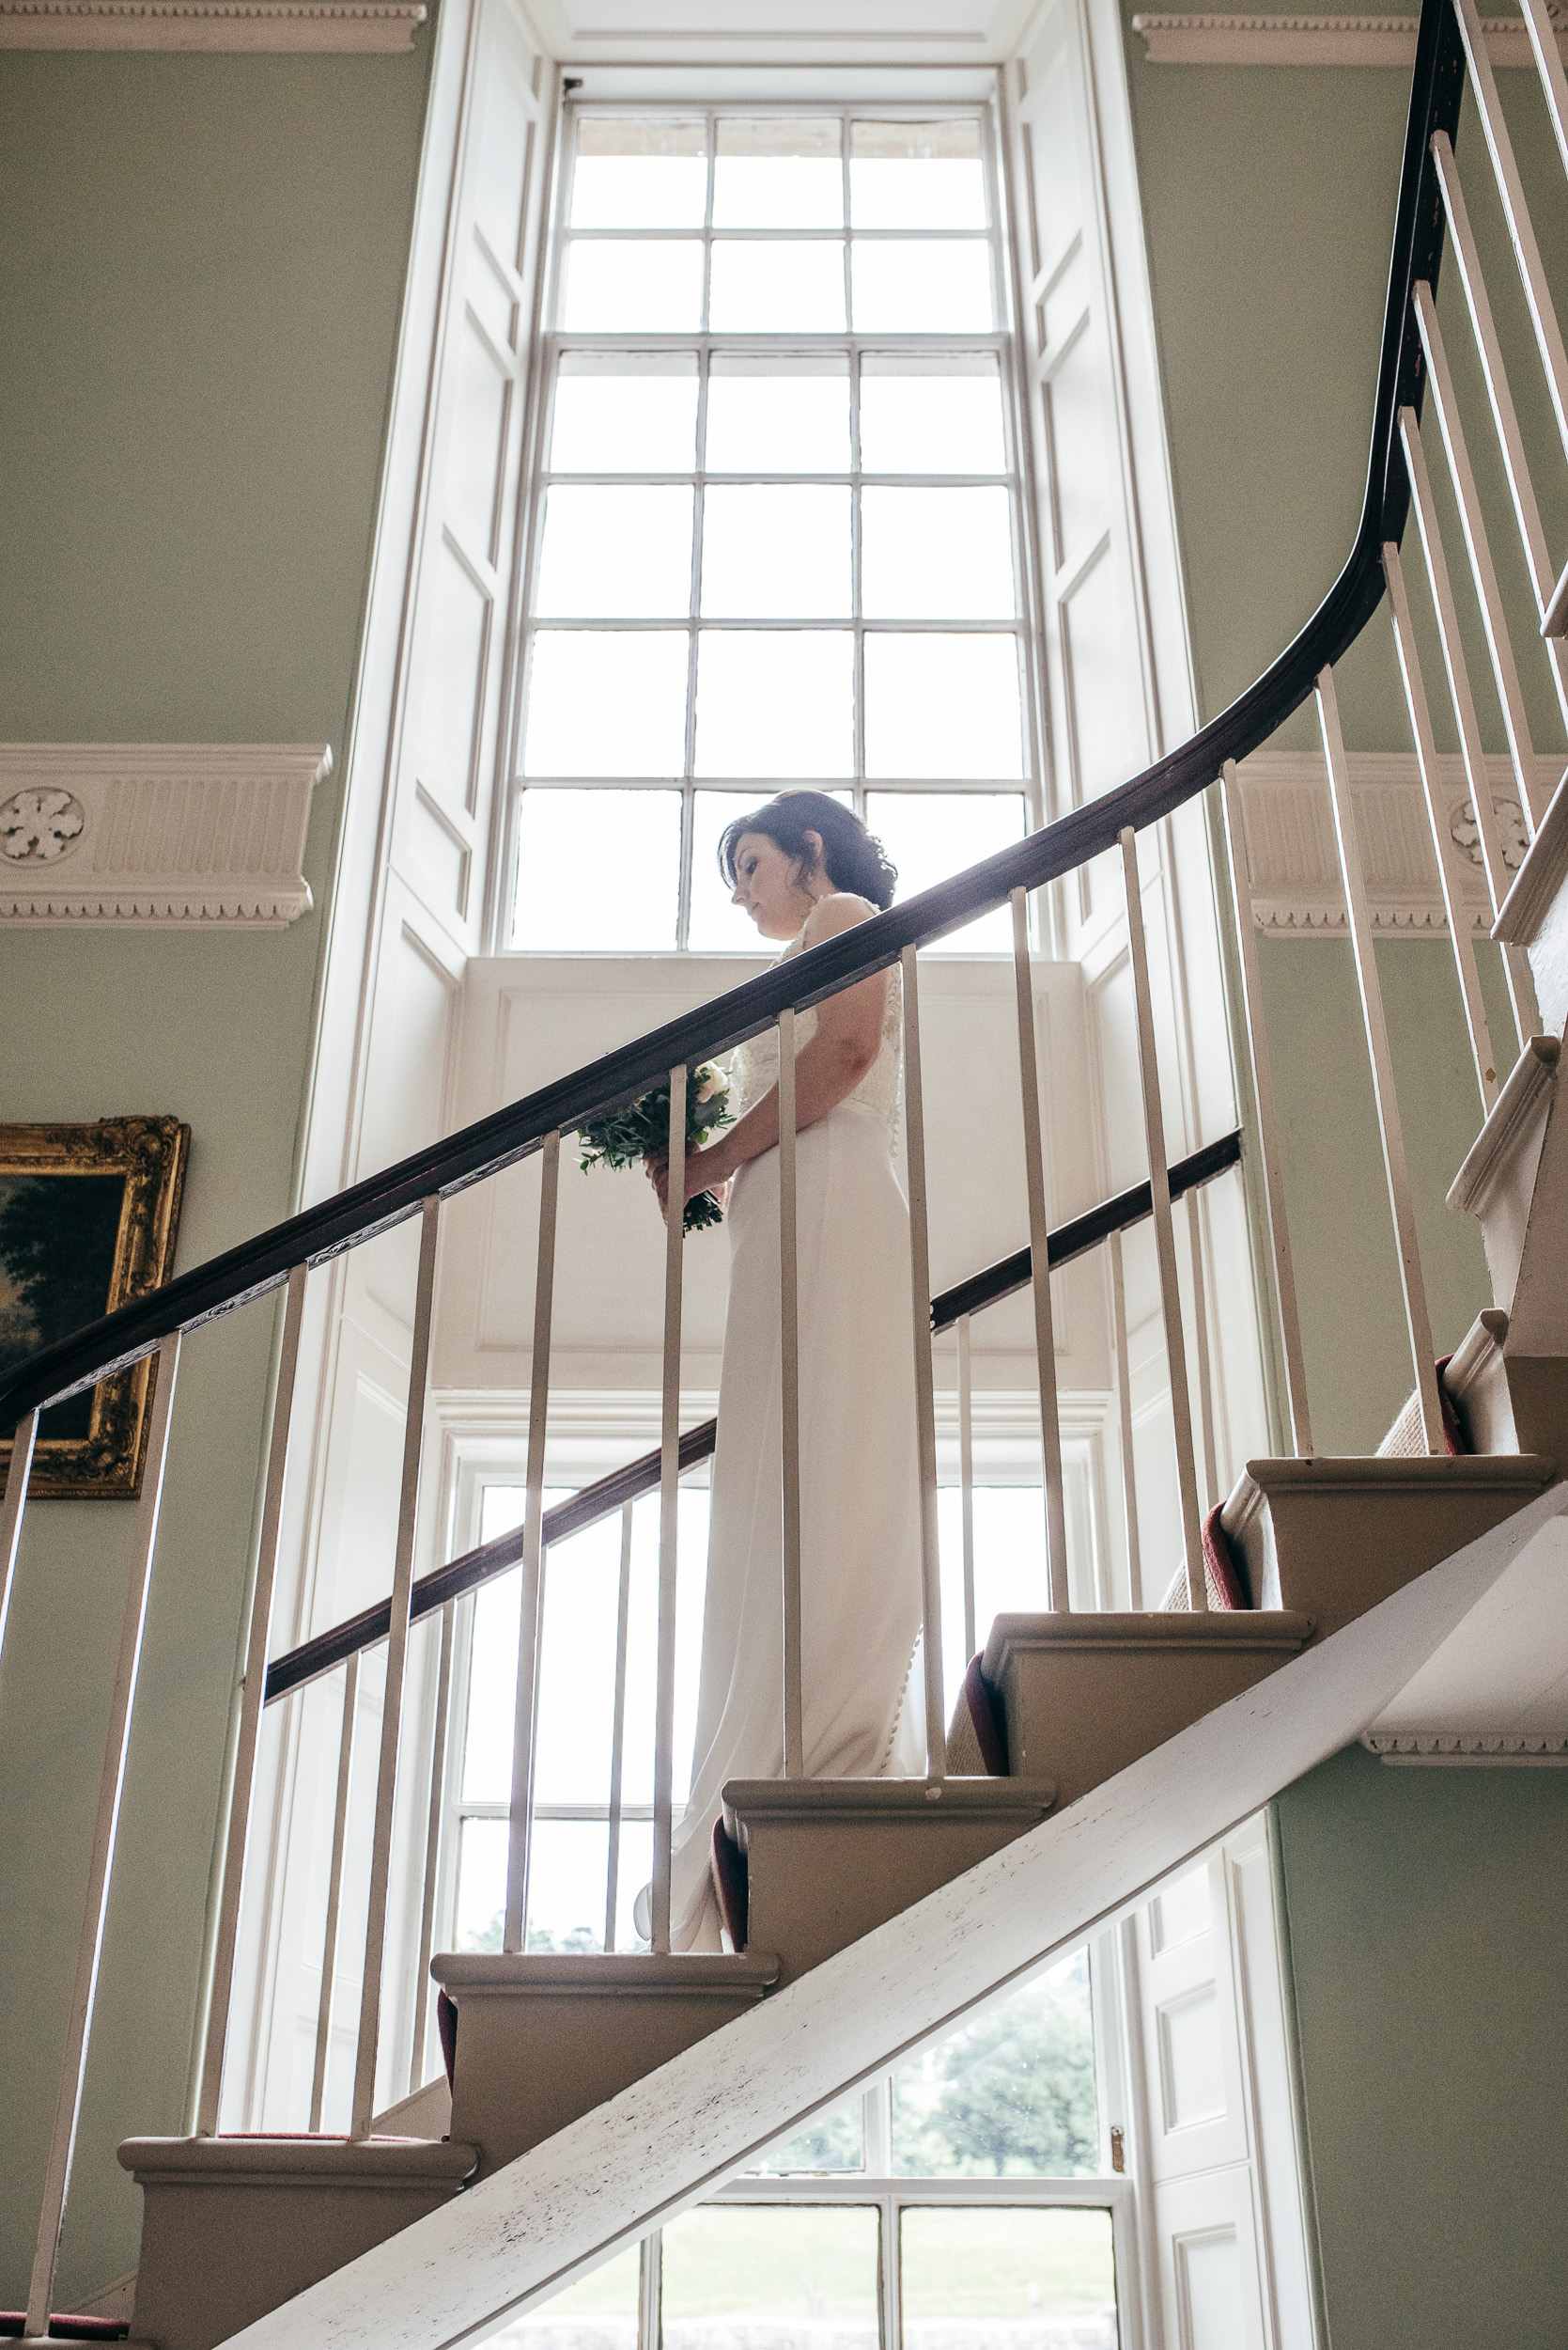
[[[528,0],[563,63],[995,66],[1040,0]]]

